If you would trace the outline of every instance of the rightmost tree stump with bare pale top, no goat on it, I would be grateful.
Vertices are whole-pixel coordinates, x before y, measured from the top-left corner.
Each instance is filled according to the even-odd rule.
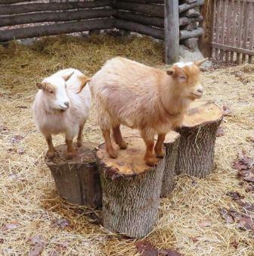
[[[175,173],[203,178],[213,170],[215,139],[223,112],[212,101],[197,101],[184,116]]]

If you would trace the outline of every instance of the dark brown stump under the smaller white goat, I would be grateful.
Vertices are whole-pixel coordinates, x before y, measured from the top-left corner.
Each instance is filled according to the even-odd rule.
[[[96,147],[97,145],[92,142],[85,142],[82,147],[77,148],[76,156],[67,160],[64,158],[66,145],[58,145],[54,159],[45,157],[45,162],[54,177],[58,195],[70,203],[90,207],[101,206]]]

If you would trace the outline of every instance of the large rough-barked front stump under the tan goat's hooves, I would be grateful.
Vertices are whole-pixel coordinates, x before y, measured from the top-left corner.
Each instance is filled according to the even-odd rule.
[[[111,232],[143,237],[156,223],[164,161],[148,167],[143,139],[128,137],[125,141],[128,148],[118,149],[116,159],[108,157],[104,144],[96,154],[103,190],[103,223]]]

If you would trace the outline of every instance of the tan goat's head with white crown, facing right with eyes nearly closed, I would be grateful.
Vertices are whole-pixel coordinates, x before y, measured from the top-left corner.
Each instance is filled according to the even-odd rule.
[[[181,90],[184,98],[195,100],[203,95],[203,86],[200,80],[200,64],[203,61],[178,62],[167,73],[175,80],[175,86]]]

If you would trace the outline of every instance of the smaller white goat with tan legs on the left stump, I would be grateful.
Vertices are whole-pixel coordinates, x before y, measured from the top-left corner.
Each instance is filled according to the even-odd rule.
[[[48,143],[48,158],[55,155],[52,134],[65,134],[67,159],[75,154],[75,136],[78,135],[78,147],[82,145],[82,130],[91,108],[91,92],[89,86],[79,94],[76,92],[88,80],[79,70],[68,68],[48,76],[42,83],[36,83],[39,92],[33,104],[33,117],[37,129]]]

